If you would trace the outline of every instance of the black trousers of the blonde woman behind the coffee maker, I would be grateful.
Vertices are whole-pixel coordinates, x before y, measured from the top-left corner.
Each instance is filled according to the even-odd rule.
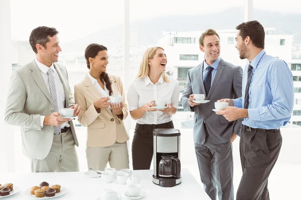
[[[131,147],[134,170],[150,168],[154,153],[153,131],[156,128],[174,128],[174,123],[173,121],[161,124],[136,123]]]

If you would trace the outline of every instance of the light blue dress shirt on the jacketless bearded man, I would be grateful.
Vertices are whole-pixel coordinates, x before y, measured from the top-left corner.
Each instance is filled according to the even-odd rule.
[[[250,63],[253,67],[249,87],[249,118],[242,124],[253,128],[276,129],[288,123],[293,108],[292,73],[285,61],[267,55],[262,49]],[[247,67],[242,80],[242,97],[233,99],[234,106],[244,105]]]

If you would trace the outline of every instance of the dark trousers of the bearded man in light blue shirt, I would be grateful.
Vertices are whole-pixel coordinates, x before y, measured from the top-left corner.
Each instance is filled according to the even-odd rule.
[[[282,144],[280,130],[249,131],[244,125],[240,137],[242,177],[236,200],[269,200],[267,179]]]

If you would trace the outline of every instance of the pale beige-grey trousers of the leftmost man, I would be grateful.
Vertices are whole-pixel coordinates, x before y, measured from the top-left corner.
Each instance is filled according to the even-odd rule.
[[[70,128],[63,134],[54,134],[48,155],[44,159],[31,159],[31,170],[32,172],[79,171],[75,142]]]

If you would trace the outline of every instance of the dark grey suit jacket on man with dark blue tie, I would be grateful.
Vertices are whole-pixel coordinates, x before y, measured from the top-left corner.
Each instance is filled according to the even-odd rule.
[[[242,68],[221,59],[208,96],[206,96],[203,81],[203,62],[188,71],[187,84],[181,98],[184,109],[194,111],[194,142],[203,144],[205,133],[208,131],[207,141],[220,144],[230,140],[232,132],[240,135],[241,119],[228,121],[224,116],[217,115],[214,102],[222,98],[241,97]],[[208,103],[191,107],[188,103],[190,94],[205,94]],[[206,125],[206,128],[205,128]]]

